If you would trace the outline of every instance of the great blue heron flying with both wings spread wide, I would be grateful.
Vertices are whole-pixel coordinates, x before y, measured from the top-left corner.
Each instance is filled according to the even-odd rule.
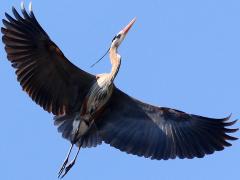
[[[71,147],[60,171],[63,177],[74,165],[80,148],[104,141],[130,154],[151,159],[202,158],[230,146],[229,133],[236,121],[213,119],[157,107],[136,100],[113,84],[121,64],[118,47],[133,19],[114,36],[109,48],[110,73],[89,74],[73,65],[36,20],[32,6],[23,4],[20,16],[6,13],[1,28],[7,58],[16,69],[23,90],[44,110]],[[78,151],[68,163],[73,146]]]

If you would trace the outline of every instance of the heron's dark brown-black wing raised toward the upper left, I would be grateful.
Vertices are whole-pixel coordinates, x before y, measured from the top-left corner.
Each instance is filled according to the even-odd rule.
[[[73,65],[51,41],[32,10],[7,13],[2,41],[24,91],[44,110],[63,115],[78,110],[95,76]]]

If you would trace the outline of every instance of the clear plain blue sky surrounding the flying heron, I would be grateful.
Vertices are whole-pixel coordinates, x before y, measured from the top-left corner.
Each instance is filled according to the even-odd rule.
[[[1,19],[13,5],[19,9],[20,0],[1,0]],[[94,74],[110,70],[108,57],[90,65],[136,16],[119,49],[122,66],[115,84],[120,89],[192,114],[240,118],[239,0],[34,0],[33,10],[64,54]],[[53,116],[22,92],[2,43],[0,84],[0,179],[57,179],[70,144],[57,133]],[[203,159],[169,161],[103,144],[82,150],[65,179],[223,180],[239,179],[239,170],[240,141]]]

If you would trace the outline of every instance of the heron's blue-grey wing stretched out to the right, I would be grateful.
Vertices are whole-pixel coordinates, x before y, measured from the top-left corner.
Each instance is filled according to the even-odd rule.
[[[152,159],[203,157],[231,144],[236,121],[212,119],[142,103],[115,89],[96,125],[103,141]]]

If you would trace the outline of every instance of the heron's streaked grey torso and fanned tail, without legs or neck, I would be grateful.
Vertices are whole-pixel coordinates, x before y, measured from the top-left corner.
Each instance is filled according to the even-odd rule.
[[[95,147],[101,144],[102,139],[99,136],[94,124],[97,113],[109,101],[113,92],[113,83],[109,81],[108,74],[102,74],[90,88],[85,97],[81,110],[75,114],[55,116],[54,124],[58,126],[58,131],[62,137],[79,145],[84,135],[82,147]]]

